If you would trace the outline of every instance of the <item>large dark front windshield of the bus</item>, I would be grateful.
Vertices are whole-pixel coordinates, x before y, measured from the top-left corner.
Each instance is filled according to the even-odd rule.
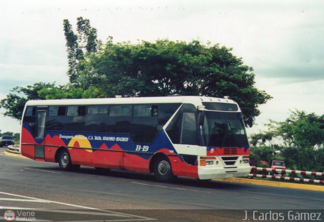
[[[241,113],[206,111],[202,137],[206,146],[249,146]]]

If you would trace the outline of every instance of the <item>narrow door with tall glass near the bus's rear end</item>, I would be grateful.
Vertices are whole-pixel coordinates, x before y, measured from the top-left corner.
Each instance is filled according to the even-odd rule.
[[[36,109],[35,140],[44,141],[47,106],[38,106]],[[41,142],[38,142],[41,143]],[[35,158],[44,159],[43,145],[35,145]]]

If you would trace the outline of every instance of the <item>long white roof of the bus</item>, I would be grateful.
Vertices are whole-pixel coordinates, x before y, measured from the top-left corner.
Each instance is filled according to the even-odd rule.
[[[234,103],[231,99],[206,96],[165,96],[165,97],[125,97],[125,98],[97,98],[97,99],[49,99],[29,100],[28,106],[42,105],[95,105],[95,104],[158,104],[158,103],[192,103],[201,105],[201,102]]]

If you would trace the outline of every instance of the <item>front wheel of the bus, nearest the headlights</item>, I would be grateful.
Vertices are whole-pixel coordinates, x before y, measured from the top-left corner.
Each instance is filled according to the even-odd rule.
[[[159,157],[154,162],[154,176],[159,182],[170,182],[173,177],[170,161],[165,157]]]

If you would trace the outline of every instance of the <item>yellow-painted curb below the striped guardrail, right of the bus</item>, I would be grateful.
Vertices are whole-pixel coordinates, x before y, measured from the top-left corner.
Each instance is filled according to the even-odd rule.
[[[249,183],[249,184],[255,184],[255,185],[259,185],[259,186],[269,186],[269,187],[279,187],[279,188],[290,188],[290,189],[324,192],[324,186],[302,184],[302,183],[278,182],[278,181],[268,181],[268,180],[260,180],[260,179],[237,178],[237,177],[229,177],[229,178],[214,179],[214,180],[225,181],[225,182]]]

